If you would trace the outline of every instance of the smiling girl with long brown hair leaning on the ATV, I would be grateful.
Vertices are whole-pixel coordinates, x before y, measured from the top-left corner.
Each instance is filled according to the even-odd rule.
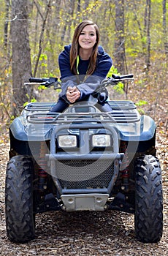
[[[63,112],[70,104],[86,100],[106,78],[112,59],[99,45],[99,28],[91,20],[83,20],[77,28],[72,44],[66,45],[58,56],[61,72],[61,93],[50,112]],[[104,112],[111,111],[107,90],[95,94]]]

